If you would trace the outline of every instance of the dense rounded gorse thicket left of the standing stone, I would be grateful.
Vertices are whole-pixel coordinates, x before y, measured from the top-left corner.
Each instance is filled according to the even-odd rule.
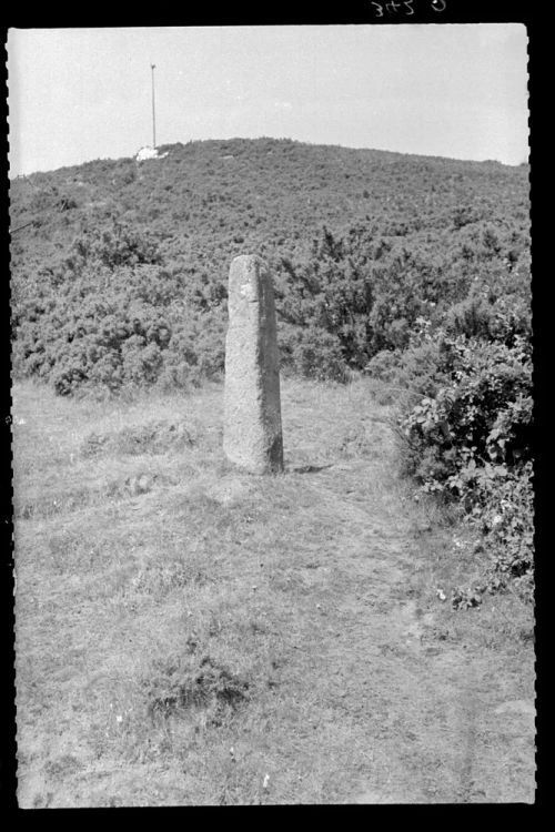
[[[114,222],[87,229],[21,301],[16,366],[68,395],[81,387],[184,385],[223,366],[223,325],[183,300],[148,237]],[[214,337],[220,334],[220,339]]]

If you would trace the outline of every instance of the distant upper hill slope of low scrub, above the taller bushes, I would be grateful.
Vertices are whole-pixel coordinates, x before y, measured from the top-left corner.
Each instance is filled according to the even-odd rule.
[[[22,248],[68,245],[83,217],[114,211],[168,241],[168,252],[189,241],[196,252],[229,245],[228,257],[242,242],[271,250],[322,224],[341,232],[370,221],[379,234],[395,236],[446,229],[465,209],[473,209],[465,223],[527,215],[526,165],[285,139],[189,142],[159,152],[167,156],[99,160],[12,181],[12,224],[32,223],[18,237]]]

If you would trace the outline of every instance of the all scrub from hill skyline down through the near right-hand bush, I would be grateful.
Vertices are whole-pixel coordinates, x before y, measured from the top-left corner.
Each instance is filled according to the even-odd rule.
[[[406,474],[461,509],[484,591],[533,598],[528,168],[302,144],[189,142],[13,180],[16,377],[60,395],[223,372],[232,257],[275,282],[282,372],[367,374]]]

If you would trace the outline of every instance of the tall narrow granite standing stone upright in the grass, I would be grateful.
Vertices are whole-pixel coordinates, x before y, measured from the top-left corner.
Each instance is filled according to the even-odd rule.
[[[283,470],[280,367],[272,278],[261,257],[230,268],[223,449],[253,474]]]

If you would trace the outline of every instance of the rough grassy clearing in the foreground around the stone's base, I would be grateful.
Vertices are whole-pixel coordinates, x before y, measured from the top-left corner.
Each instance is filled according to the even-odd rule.
[[[483,565],[377,394],[285,381],[255,477],[219,385],[14,386],[21,806],[534,800],[532,613],[451,607]]]

